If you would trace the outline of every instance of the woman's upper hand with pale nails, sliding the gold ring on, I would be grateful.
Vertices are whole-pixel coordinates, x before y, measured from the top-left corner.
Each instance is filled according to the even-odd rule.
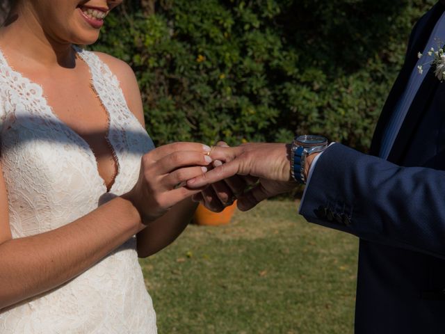
[[[144,154],[136,185],[124,198],[138,209],[145,225],[163,216],[173,205],[199,193],[187,180],[207,172],[211,148],[199,143],[172,143]]]

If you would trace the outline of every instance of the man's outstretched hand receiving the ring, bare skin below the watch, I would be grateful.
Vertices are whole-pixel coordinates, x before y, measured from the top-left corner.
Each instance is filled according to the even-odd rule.
[[[235,148],[217,147],[211,157],[225,163],[201,177],[188,180],[187,186],[202,187],[233,175],[258,177],[259,182],[252,189],[237,196],[238,208],[242,211],[251,209],[270,196],[291,191],[298,185],[291,178],[288,144],[248,143]]]

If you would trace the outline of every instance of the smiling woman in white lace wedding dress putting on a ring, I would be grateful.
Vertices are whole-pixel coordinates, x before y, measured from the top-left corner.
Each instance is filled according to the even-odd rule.
[[[210,148],[154,149],[131,68],[95,42],[122,0],[16,0],[0,29],[0,332],[156,333],[138,255],[170,244]]]

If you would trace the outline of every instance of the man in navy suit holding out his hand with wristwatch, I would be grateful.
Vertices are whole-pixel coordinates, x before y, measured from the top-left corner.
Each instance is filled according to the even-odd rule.
[[[418,53],[445,41],[444,2],[414,26],[371,155],[323,139],[312,152],[305,138],[293,154],[285,144],[216,148],[230,162],[188,182],[259,177],[238,200],[245,210],[296,186],[291,169],[306,181],[300,214],[360,238],[355,333],[445,333],[445,83],[435,65],[417,72]]]

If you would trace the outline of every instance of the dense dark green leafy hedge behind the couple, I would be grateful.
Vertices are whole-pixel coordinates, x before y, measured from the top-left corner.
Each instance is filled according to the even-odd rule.
[[[127,1],[93,48],[133,67],[159,145],[310,132],[366,151],[412,25],[434,2],[164,0],[144,15]]]

